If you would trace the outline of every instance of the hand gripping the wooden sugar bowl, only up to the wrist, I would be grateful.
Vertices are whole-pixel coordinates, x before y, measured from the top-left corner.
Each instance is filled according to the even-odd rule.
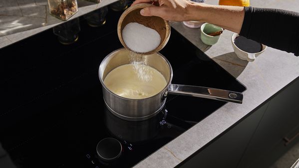
[[[132,5],[154,2],[158,2],[159,6],[145,7],[140,10],[140,14],[143,16],[159,16],[172,21],[191,20],[190,8],[195,2],[190,0],[135,0]]]

